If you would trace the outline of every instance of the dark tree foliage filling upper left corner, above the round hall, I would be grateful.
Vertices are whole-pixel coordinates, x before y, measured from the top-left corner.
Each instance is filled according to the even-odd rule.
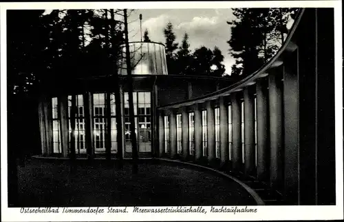
[[[35,92],[54,79],[109,72],[123,42],[122,23],[109,19],[109,10],[43,12],[8,12],[10,94]]]

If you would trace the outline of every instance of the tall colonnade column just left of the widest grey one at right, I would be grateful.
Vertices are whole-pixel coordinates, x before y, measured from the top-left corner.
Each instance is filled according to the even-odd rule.
[[[283,180],[283,113],[281,81],[277,70],[269,74],[270,186],[281,190]]]

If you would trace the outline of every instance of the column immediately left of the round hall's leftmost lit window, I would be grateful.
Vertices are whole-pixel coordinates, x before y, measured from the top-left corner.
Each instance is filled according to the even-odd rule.
[[[44,117],[45,117],[45,135],[47,141],[47,155],[50,156],[53,153],[52,144],[52,98],[47,97],[44,100]]]

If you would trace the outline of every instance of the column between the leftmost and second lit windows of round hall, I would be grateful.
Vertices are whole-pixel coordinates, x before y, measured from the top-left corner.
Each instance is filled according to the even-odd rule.
[[[68,96],[58,97],[58,109],[60,118],[60,131],[61,131],[61,148],[63,157],[68,157]]]

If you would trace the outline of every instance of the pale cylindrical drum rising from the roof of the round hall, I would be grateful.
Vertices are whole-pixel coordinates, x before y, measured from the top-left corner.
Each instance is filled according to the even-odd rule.
[[[165,46],[161,43],[129,43],[131,74],[167,74]],[[122,57],[118,64],[119,74],[127,74],[125,46],[122,45]]]

